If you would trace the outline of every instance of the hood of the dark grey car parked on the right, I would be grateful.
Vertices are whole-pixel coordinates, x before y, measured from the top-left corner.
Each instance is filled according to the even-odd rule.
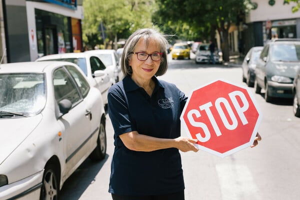
[[[271,74],[282,75],[294,78],[297,70],[300,68],[299,62],[273,62],[269,68]]]

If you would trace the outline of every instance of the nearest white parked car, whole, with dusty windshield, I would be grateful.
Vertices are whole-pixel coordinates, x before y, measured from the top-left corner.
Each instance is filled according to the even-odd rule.
[[[71,62],[0,65],[0,199],[58,199],[87,158],[106,155],[98,89]]]

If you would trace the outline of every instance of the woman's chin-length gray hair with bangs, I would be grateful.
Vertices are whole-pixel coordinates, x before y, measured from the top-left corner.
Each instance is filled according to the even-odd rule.
[[[166,46],[167,46],[167,40],[165,38],[165,35],[158,32],[155,29],[150,28],[142,28],[138,29],[135,32],[133,32],[129,38],[126,40],[126,43],[124,45],[124,50],[121,57],[121,69],[124,75],[131,75],[132,74],[132,68],[129,66],[128,59],[130,56],[132,56],[132,51],[134,50],[138,40],[140,38],[143,38],[146,41],[146,45],[148,44],[149,40],[153,40],[158,46],[160,46],[160,52],[162,52],[162,57],[160,59],[160,64],[158,67],[157,72],[155,75],[163,75],[166,72],[167,69],[167,53],[166,53]]]

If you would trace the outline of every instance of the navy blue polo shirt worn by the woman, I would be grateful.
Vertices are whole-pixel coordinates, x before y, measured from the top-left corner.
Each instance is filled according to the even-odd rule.
[[[177,148],[150,152],[129,150],[120,134],[137,131],[159,138],[180,136],[180,114],[187,97],[174,84],[152,77],[151,96],[130,76],[108,90],[108,114],[114,129],[109,192],[119,195],[156,195],[184,189]]]

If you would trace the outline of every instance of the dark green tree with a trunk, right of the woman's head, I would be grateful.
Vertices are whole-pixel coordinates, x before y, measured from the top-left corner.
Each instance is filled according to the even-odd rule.
[[[247,10],[250,0],[156,0],[161,20],[186,23],[192,30],[203,31],[214,39],[221,36],[223,59],[229,60],[228,29],[237,14]]]

